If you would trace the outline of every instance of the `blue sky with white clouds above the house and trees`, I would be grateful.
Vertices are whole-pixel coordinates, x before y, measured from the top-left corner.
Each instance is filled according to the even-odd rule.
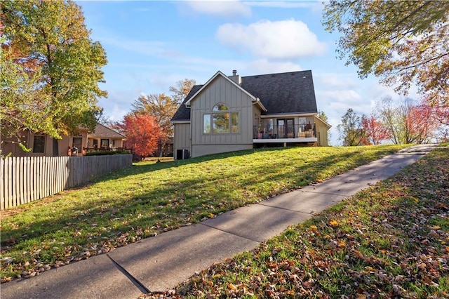
[[[370,114],[386,95],[375,77],[358,79],[336,58],[338,34],[321,25],[321,1],[76,1],[91,38],[107,53],[109,96],[99,104],[119,121],[142,94],[169,93],[182,79],[204,84],[218,70],[241,76],[311,69],[331,144],[348,108]]]

